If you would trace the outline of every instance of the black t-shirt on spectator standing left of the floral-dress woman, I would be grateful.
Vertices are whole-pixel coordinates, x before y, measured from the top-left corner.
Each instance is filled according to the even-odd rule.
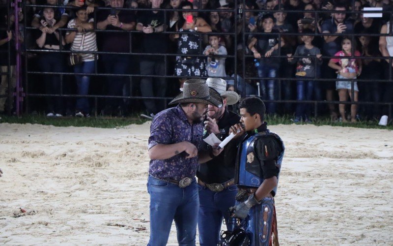
[[[150,25],[153,28],[157,28],[165,24],[165,17],[163,11],[154,13],[153,11],[140,11],[138,12],[138,23],[141,23],[144,27]],[[163,54],[168,52],[168,34],[162,32],[143,33],[142,34],[142,52],[145,53],[156,53]],[[160,56],[146,56],[145,58],[164,59]]]

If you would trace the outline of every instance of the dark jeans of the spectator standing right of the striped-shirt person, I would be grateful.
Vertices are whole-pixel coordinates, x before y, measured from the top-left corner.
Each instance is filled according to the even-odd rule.
[[[109,74],[127,74],[130,69],[130,57],[128,55],[102,55],[104,61],[105,72]],[[107,76],[107,94],[108,95],[123,95],[123,86],[127,83],[127,76]],[[123,99],[107,98],[107,106],[115,109],[118,106],[123,106]]]

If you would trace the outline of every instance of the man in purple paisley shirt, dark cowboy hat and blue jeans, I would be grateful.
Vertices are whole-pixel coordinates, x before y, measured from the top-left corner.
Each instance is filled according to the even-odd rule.
[[[149,246],[165,246],[173,219],[179,245],[195,245],[199,208],[196,173],[198,163],[205,163],[222,152],[201,150],[202,124],[208,105],[223,105],[218,92],[206,80],[190,79],[169,104],[176,107],[158,113],[150,126]]]

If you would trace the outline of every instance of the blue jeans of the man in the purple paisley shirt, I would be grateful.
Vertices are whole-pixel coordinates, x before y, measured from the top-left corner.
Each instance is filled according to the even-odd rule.
[[[196,179],[179,188],[149,176],[150,240],[148,246],[165,246],[173,219],[176,223],[177,242],[180,246],[195,246],[199,196]]]

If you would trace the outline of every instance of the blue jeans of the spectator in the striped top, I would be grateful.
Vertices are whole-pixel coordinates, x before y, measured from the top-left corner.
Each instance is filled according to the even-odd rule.
[[[94,61],[82,62],[74,66],[75,73],[93,73]],[[75,75],[78,87],[78,95],[87,95],[89,92],[90,76]],[[77,111],[90,113],[89,99],[87,97],[78,97],[76,102]]]

